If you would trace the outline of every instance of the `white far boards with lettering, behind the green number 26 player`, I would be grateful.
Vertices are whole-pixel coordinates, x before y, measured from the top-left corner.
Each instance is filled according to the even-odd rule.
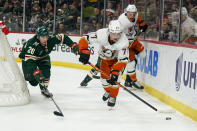
[[[21,52],[23,44],[32,38],[34,34],[24,34],[24,33],[9,33],[7,36],[8,41],[11,45],[11,51],[14,53],[15,57],[18,57]],[[81,36],[69,36],[74,42],[78,42]],[[89,45],[91,50],[90,61],[96,63],[98,57],[98,46],[96,44]],[[59,62],[69,62],[69,63],[80,63],[78,62],[78,57],[71,53],[70,47],[66,45],[56,45],[50,54],[52,61]]]

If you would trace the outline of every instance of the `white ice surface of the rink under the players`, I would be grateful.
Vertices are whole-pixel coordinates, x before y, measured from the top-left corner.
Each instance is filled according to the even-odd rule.
[[[21,65],[20,65],[21,66]],[[81,88],[88,71],[52,67],[49,90],[64,113],[55,116],[53,102],[29,85],[31,103],[0,107],[0,131],[196,131],[197,123],[181,113],[161,114],[120,89],[116,106],[109,111],[102,101],[99,80]],[[132,90],[158,109],[171,109],[143,91]],[[165,120],[171,117],[171,120]]]

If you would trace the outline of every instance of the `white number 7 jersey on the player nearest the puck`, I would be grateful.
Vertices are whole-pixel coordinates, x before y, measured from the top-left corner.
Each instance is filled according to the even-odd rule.
[[[102,59],[112,60],[117,58],[119,61],[128,61],[129,41],[124,33],[122,33],[120,39],[112,45],[108,40],[109,31],[107,28],[100,29],[88,35],[90,44],[99,44],[99,56]]]

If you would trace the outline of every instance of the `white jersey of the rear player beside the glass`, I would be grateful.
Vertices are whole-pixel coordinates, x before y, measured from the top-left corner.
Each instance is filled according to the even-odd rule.
[[[127,18],[126,13],[122,13],[118,18],[118,21],[121,23],[121,29],[126,34],[129,40],[134,39],[134,36],[136,35],[135,25],[137,23],[137,19],[138,19],[138,13],[135,16],[134,22],[131,22]]]

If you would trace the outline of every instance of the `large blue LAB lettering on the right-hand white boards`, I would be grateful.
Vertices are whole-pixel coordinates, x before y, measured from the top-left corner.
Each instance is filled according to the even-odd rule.
[[[156,77],[158,71],[158,60],[159,60],[159,53],[158,51],[153,51],[147,49],[145,50],[146,56],[144,58],[137,57],[137,67],[136,69],[140,72],[144,72],[151,76]]]

